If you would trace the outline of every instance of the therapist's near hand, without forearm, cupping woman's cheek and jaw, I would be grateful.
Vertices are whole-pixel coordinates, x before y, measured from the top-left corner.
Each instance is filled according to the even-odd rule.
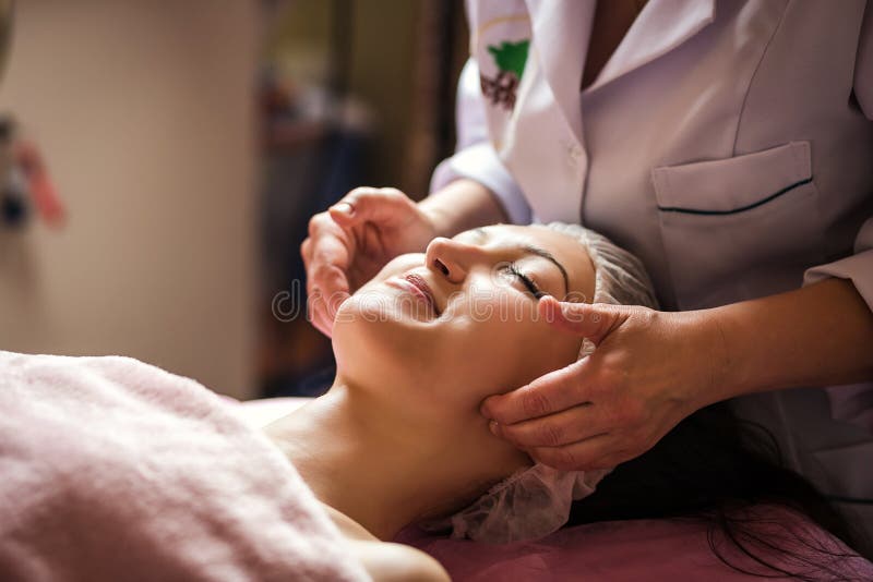
[[[590,339],[588,357],[528,386],[485,400],[492,432],[543,464],[608,469],[651,448],[682,419],[720,395],[723,342],[699,312],[559,303],[539,315]]]

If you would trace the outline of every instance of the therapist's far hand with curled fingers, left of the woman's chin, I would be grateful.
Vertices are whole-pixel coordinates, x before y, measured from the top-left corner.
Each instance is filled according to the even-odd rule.
[[[358,187],[309,221],[300,246],[309,317],[331,336],[339,305],[392,258],[422,251],[435,237],[431,219],[392,187]]]

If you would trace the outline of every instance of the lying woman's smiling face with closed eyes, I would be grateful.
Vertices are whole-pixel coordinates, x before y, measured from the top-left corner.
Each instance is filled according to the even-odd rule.
[[[581,340],[538,315],[541,294],[590,301],[594,267],[574,239],[494,226],[435,239],[388,263],[337,314],[338,374],[384,387],[426,417],[475,412],[575,361]]]

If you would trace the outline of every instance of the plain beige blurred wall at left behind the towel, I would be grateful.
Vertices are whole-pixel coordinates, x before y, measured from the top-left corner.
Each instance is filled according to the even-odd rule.
[[[259,3],[16,4],[0,109],[69,220],[0,229],[0,349],[132,355],[247,396]]]

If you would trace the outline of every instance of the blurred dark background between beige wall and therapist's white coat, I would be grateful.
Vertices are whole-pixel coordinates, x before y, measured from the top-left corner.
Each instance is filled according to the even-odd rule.
[[[299,246],[309,217],[358,185],[427,194],[454,145],[467,31],[462,0],[266,7],[259,378],[263,396],[315,396],[334,369],[330,341],[302,317]],[[283,291],[283,313],[297,317],[274,313]]]

